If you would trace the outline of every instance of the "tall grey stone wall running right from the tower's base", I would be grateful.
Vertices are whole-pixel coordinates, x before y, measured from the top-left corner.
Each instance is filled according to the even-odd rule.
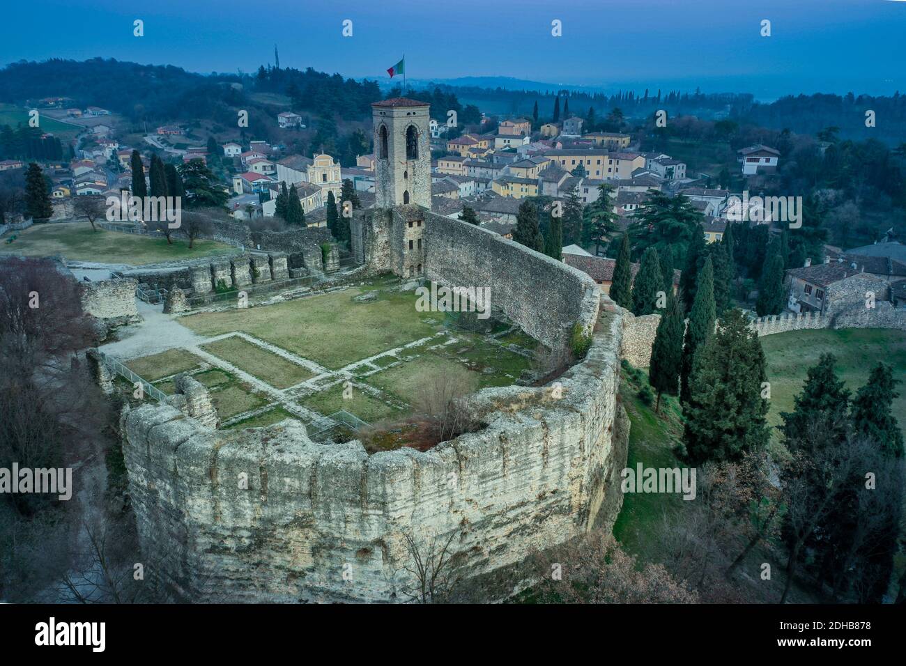
[[[572,266],[467,222],[425,213],[425,276],[448,286],[490,287],[491,314],[504,313],[548,347],[573,323],[590,330],[598,286]]]

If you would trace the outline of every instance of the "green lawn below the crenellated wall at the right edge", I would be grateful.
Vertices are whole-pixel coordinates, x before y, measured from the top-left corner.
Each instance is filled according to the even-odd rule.
[[[780,423],[780,412],[793,410],[793,397],[802,391],[805,372],[824,352],[837,357],[837,376],[846,387],[857,391],[879,361],[892,365],[893,377],[906,377],[906,332],[892,329],[842,329],[776,333],[761,338],[767,357],[767,380],[771,382],[772,425]],[[893,415],[906,432],[906,384],[898,387],[900,397],[893,401]],[[776,432],[776,430],[775,430]],[[776,435],[775,435],[776,437]]]

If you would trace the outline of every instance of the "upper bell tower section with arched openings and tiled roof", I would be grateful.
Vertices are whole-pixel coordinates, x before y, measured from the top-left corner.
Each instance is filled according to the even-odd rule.
[[[431,208],[429,104],[398,97],[371,104],[375,207]]]

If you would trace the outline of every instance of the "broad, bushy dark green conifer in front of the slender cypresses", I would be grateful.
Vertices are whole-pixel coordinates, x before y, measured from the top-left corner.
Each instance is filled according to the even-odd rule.
[[[767,446],[765,368],[765,352],[748,318],[728,310],[695,356],[683,431],[692,464],[738,460]]]

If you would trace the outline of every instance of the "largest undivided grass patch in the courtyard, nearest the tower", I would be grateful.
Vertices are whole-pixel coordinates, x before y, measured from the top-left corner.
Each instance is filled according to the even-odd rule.
[[[363,291],[353,287],[280,304],[192,314],[178,321],[208,336],[244,331],[332,370],[439,330],[438,324],[424,321],[432,313],[416,311],[414,292],[386,290],[378,292],[376,301],[352,300]]]

